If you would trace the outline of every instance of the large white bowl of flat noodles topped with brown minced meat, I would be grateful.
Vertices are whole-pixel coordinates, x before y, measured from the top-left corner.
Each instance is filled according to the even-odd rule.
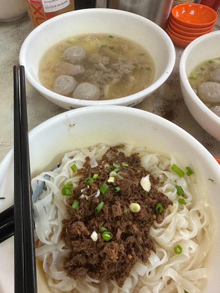
[[[43,122],[29,147],[38,292],[216,292],[220,166],[191,135],[96,106]],[[12,174],[13,150],[0,164],[1,210]],[[0,289],[12,293],[13,239],[0,256]]]

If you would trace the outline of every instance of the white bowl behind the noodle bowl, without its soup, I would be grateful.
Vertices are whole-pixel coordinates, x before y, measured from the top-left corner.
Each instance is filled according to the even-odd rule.
[[[68,98],[43,87],[38,79],[38,63],[45,51],[71,35],[91,32],[121,35],[145,47],[155,62],[155,82],[139,93],[104,101]],[[35,28],[21,47],[20,64],[25,66],[28,81],[48,100],[62,108],[70,110],[91,105],[133,106],[150,96],[168,78],[175,64],[175,49],[165,31],[142,16],[114,9],[85,9],[61,14]]]

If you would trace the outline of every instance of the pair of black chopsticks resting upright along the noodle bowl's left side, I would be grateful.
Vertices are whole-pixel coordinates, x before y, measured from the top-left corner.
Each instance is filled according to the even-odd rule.
[[[17,66],[13,72],[15,293],[37,293],[24,67],[20,67],[20,95]]]

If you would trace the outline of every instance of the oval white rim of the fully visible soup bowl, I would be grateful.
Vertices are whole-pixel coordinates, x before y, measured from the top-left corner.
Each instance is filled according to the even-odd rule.
[[[33,78],[33,76],[30,74],[30,72],[28,70],[28,66],[27,66],[27,62],[26,62],[26,58],[25,58],[25,54],[26,54],[26,50],[27,50],[26,48],[27,48],[32,36],[35,35],[35,33],[37,33],[38,31],[46,28],[51,23],[57,21],[57,19],[59,19],[59,18],[65,18],[66,16],[69,16],[69,15],[75,15],[75,14],[80,14],[80,13],[85,13],[85,12],[93,12],[93,11],[99,11],[100,13],[110,11],[112,13],[118,14],[119,16],[120,15],[132,16],[134,21],[136,19],[141,18],[142,21],[144,21],[148,24],[150,23],[150,25],[153,25],[153,27],[156,28],[160,32],[160,34],[163,34],[164,37],[166,37],[166,40],[164,40],[164,41],[166,42],[167,47],[168,47],[169,59],[168,59],[167,67],[165,68],[163,74],[160,76],[159,79],[157,79],[152,85],[143,89],[142,91],[139,91],[138,93],[134,93],[134,94],[126,96],[126,97],[111,99],[111,100],[92,101],[92,100],[79,100],[79,99],[69,98],[66,96],[59,95],[59,94],[54,93],[53,91],[50,91],[49,89],[45,88],[38,81],[36,81],[35,78]],[[129,103],[129,102],[135,101],[138,98],[147,97],[150,93],[155,91],[157,88],[159,88],[166,81],[166,79],[168,78],[168,76],[171,74],[171,72],[173,70],[173,67],[175,65],[175,59],[176,59],[175,47],[174,47],[170,37],[156,23],[154,23],[153,21],[150,21],[149,19],[147,19],[143,16],[137,15],[135,13],[131,13],[128,11],[122,11],[122,10],[118,10],[118,9],[109,9],[109,8],[89,8],[89,9],[75,10],[75,11],[63,13],[63,14],[60,14],[58,16],[55,16],[53,18],[48,19],[47,21],[42,23],[40,26],[38,26],[37,28],[32,30],[32,32],[26,37],[26,39],[24,40],[24,42],[21,46],[20,55],[19,55],[20,64],[24,65],[24,67],[26,69],[26,72],[25,72],[26,78],[28,79],[28,81],[31,83],[31,85],[34,88],[36,88],[38,91],[40,91],[44,95],[49,96],[50,98],[53,98],[53,100],[68,103],[68,104],[73,104],[73,105],[75,104],[78,106],[91,106],[91,105],[100,105],[100,104],[101,105],[116,105],[116,104],[120,105],[120,104],[123,104],[125,101]]]

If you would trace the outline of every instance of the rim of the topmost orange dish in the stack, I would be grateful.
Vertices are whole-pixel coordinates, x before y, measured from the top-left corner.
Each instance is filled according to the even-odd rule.
[[[198,7],[198,5],[201,7],[202,6],[202,9],[204,9],[204,11],[210,11],[211,13],[213,13],[213,16],[215,15],[215,18],[213,21],[209,21],[209,22],[205,22],[205,23],[189,23],[187,21],[183,21],[181,18],[178,18],[175,16],[174,12],[178,9],[178,8],[181,8],[182,6],[187,6],[187,7]],[[216,19],[218,18],[218,14],[216,13],[216,11],[214,11],[214,9],[212,9],[211,7],[209,6],[206,6],[206,5],[202,5],[202,4],[197,4],[197,3],[182,3],[182,4],[178,4],[176,6],[174,6],[172,8],[172,11],[171,11],[171,14],[172,16],[175,18],[175,20],[179,21],[180,23],[183,23],[183,24],[187,24],[189,27],[191,28],[194,28],[194,27],[200,27],[201,25],[205,25],[206,26],[209,26],[213,23],[215,23]],[[180,14],[181,15],[181,14]],[[183,25],[184,26],[184,25]]]

